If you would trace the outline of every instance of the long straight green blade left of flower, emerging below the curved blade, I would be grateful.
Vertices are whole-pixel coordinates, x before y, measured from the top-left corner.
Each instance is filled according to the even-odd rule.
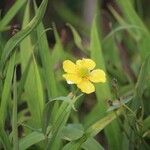
[[[35,4],[35,10],[37,11],[36,3],[34,4]],[[52,56],[50,53],[47,36],[46,36],[46,33],[44,32],[44,25],[42,22],[37,26],[36,31],[37,31],[37,38],[39,40],[38,52],[42,61],[44,80],[45,80],[46,87],[48,90],[48,97],[54,98],[58,96],[58,89],[57,89],[56,78],[55,78],[55,73],[54,73],[54,66],[51,61]],[[41,37],[41,34],[43,34],[42,37]]]

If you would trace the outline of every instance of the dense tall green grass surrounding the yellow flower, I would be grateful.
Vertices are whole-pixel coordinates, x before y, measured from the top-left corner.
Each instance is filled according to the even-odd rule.
[[[2,16],[0,149],[150,149],[150,34],[134,3],[118,0],[116,5],[122,12],[108,6],[114,24],[104,37],[102,10],[96,11],[92,26],[84,28],[83,20],[69,8],[58,9],[54,3],[60,17],[69,22],[82,54],[78,57],[91,58],[107,74],[107,82],[96,84],[90,96],[75,93],[62,78],[62,62],[77,56],[63,45],[55,23],[45,28],[48,0],[39,7],[35,1],[18,0]],[[21,30],[9,37],[7,30],[20,11]],[[52,48],[47,32],[54,34]],[[80,33],[88,36],[90,46],[83,45]],[[93,106],[85,112],[88,102]]]

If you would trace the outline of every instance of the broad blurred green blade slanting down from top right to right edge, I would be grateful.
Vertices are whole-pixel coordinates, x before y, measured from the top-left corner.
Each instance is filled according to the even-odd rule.
[[[140,50],[141,57],[144,59],[150,54],[148,49],[150,49],[150,33],[149,30],[144,25],[144,22],[137,15],[132,3],[130,0],[117,0],[117,3],[121,7],[123,15],[125,16],[126,22],[129,22],[131,25],[136,25],[142,28],[143,30],[136,30],[136,36],[140,37],[137,41],[137,44]]]

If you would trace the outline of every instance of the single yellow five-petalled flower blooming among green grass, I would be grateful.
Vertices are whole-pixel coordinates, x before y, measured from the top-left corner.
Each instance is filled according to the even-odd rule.
[[[90,94],[95,91],[92,82],[106,82],[105,72],[101,69],[95,69],[96,64],[91,59],[79,59],[76,63],[70,60],[63,62],[63,69],[66,72],[63,77],[68,84],[76,84],[84,93]]]

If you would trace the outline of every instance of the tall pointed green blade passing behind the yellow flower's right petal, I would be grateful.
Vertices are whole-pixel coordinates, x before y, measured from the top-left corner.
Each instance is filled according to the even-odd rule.
[[[96,62],[97,68],[103,69],[106,72],[105,62],[101,47],[101,41],[99,37],[97,18],[95,17],[91,29],[91,58]],[[88,116],[87,120],[92,118],[90,122],[95,122],[98,118],[102,118],[106,115],[106,100],[111,99],[112,95],[109,89],[108,80],[106,83],[100,83],[96,85],[96,97],[98,104]],[[94,116],[94,117],[93,117]],[[88,121],[89,122],[89,121]],[[91,124],[88,123],[88,124]],[[112,122],[105,130],[105,134],[109,143],[109,148],[114,150],[120,150],[121,146],[121,132],[116,121]],[[114,138],[111,138],[111,137]]]

